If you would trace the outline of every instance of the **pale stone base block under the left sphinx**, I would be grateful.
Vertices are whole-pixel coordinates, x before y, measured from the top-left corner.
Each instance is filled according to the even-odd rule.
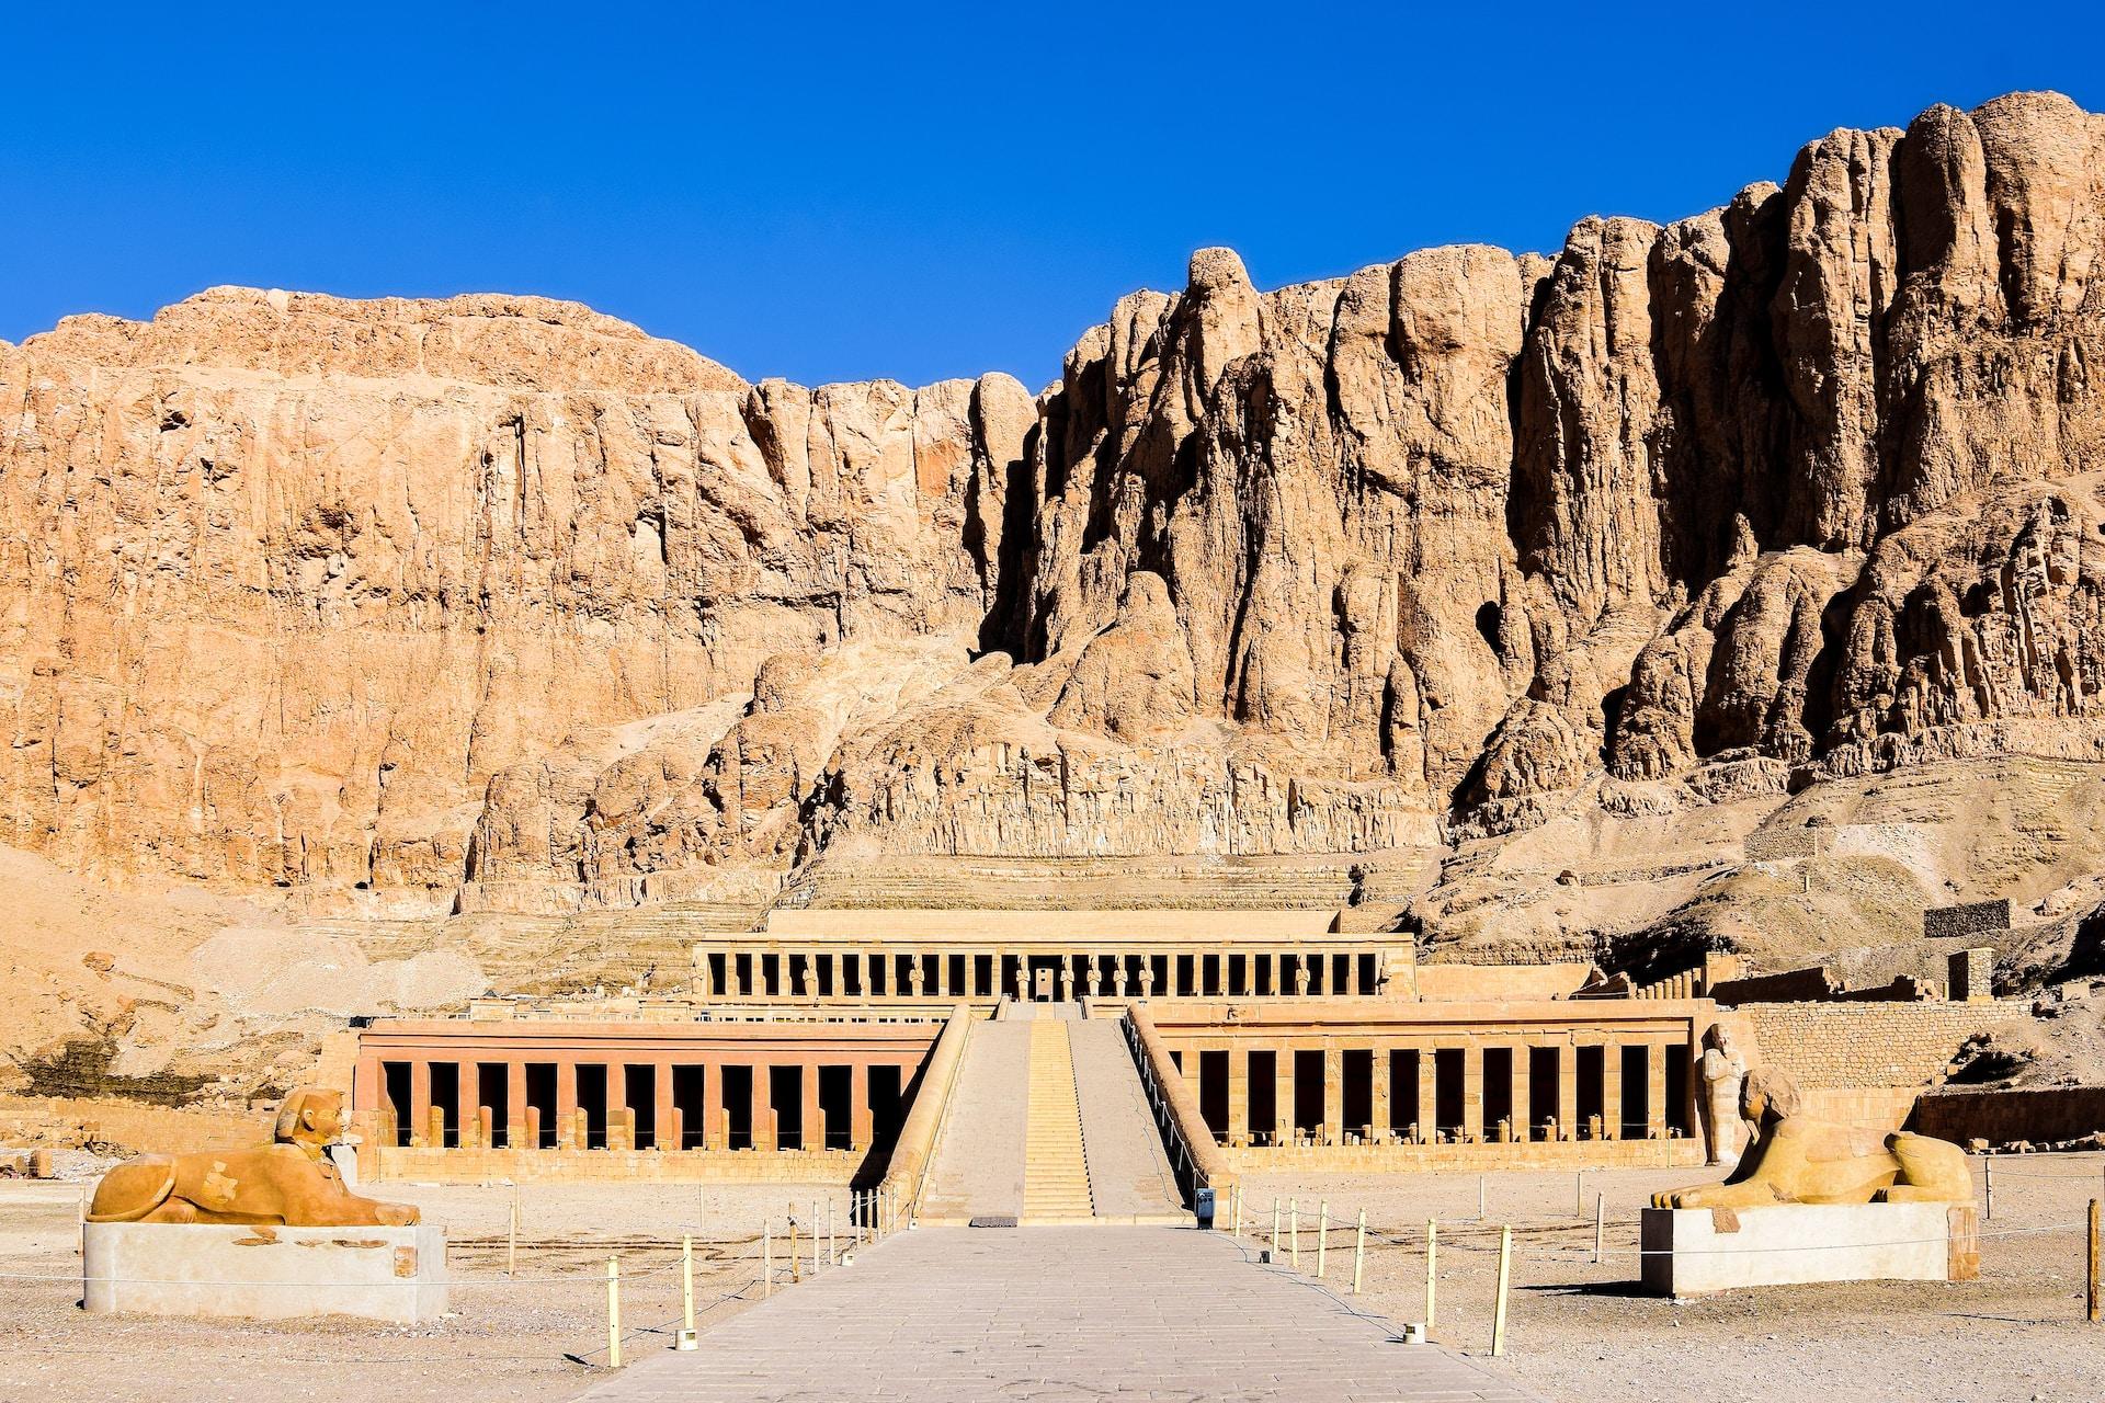
[[[82,1304],[97,1315],[301,1319],[352,1315],[417,1325],[446,1313],[446,1228],[263,1228],[91,1222]]]

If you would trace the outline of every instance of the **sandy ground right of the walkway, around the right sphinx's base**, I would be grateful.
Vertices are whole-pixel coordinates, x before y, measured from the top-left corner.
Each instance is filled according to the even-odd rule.
[[[1977,1161],[1979,1176],[1979,1161]],[[1983,1224],[1981,1281],[1848,1283],[1726,1292],[1690,1302],[1636,1294],[1638,1205],[1690,1170],[1575,1176],[1252,1176],[1244,1237],[1263,1243],[1271,1199],[1299,1197],[1311,1224],[1368,1222],[1362,1302],[1391,1321],[1425,1319],[1425,1218],[1440,1222],[1436,1338],[1547,1399],[1650,1403],[2002,1403],[2105,1397],[2105,1325],[2084,1323],[2084,1214],[2105,1193],[2105,1155],[1998,1159],[1996,1218]],[[1608,1201],[1606,1260],[1593,1264],[1593,1195]],[[1499,1224],[1513,1226],[1507,1353],[1490,1359]],[[2048,1231],[2042,1231],[2048,1228]],[[1328,1279],[1351,1283],[1351,1228],[1330,1241]],[[1301,1266],[1314,1275],[1314,1231]]]

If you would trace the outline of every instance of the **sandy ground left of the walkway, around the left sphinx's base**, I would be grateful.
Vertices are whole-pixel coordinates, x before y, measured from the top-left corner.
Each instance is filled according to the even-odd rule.
[[[606,1378],[608,1256],[621,1258],[634,1357],[669,1346],[680,1323],[682,1233],[699,1226],[695,1296],[707,1329],[758,1298],[764,1216],[783,1235],[791,1205],[808,1220],[819,1201],[823,1218],[829,1193],[844,1235],[848,1203],[840,1188],[796,1184],[528,1186],[518,1277],[507,1279],[509,1188],[387,1184],[377,1193],[446,1224],[453,1317],[423,1327],[91,1317],[78,1306],[80,1188],[0,1182],[0,1403],[261,1403],[345,1390],[389,1403],[568,1399]],[[808,1247],[802,1237],[800,1273],[810,1270]],[[789,1279],[781,1260],[777,1270]]]

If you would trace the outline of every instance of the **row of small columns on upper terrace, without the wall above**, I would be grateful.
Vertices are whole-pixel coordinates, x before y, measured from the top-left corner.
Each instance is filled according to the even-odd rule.
[[[1242,951],[751,951],[695,949],[695,993],[705,999],[1015,999],[1038,997],[1036,972],[1057,961],[1050,997],[1263,997],[1377,995],[1387,953],[1368,949]]]

